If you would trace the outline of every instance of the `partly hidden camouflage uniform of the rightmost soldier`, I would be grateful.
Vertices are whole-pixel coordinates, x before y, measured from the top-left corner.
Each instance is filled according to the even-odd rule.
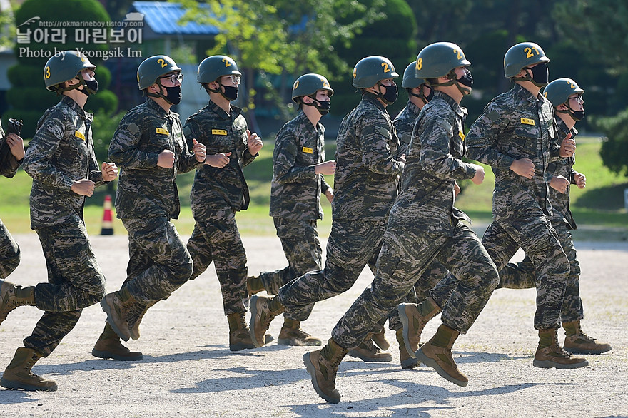
[[[561,118],[556,118],[558,139],[564,138],[568,133],[572,133],[572,137],[576,136],[578,131],[576,128],[569,130],[567,125]],[[562,158],[553,161],[547,167],[547,180],[551,180],[553,176],[562,175],[572,184],[574,182],[574,156]],[[577,229],[576,222],[569,210],[569,186],[566,193],[560,193],[550,188],[550,202],[552,203],[552,226],[558,234],[562,250],[569,259],[569,277],[567,278],[567,287],[562,301],[562,322],[571,322],[582,320],[584,318],[584,310],[582,308],[582,300],[580,299],[579,278],[580,263],[576,256],[574,241],[569,230]],[[506,267],[500,271],[500,287],[510,289],[530,289],[536,287],[535,266],[532,264],[530,257],[520,263],[509,262]]]

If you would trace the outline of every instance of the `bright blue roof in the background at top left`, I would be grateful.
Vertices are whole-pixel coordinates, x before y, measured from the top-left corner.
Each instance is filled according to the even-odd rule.
[[[207,6],[202,4],[201,7]],[[144,15],[144,22],[157,34],[217,35],[218,28],[209,24],[188,21],[180,24],[186,10],[181,4],[168,1],[133,1],[133,9]]]

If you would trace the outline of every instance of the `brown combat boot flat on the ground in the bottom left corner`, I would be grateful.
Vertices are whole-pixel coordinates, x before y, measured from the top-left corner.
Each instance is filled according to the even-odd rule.
[[[19,347],[2,374],[0,386],[7,389],[55,391],[57,387],[54,380],[42,379],[31,373],[31,369],[41,357],[43,356],[32,348]]]

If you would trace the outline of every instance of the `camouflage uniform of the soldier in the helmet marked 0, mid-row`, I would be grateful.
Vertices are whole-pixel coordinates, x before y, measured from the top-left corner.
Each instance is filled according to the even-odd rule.
[[[325,127],[313,126],[300,111],[285,123],[275,138],[273,182],[270,185],[270,216],[281,240],[288,267],[259,276],[270,295],[306,272],[323,269],[323,248],[316,223],[323,219],[320,194],[330,185],[314,165],[325,161]]]

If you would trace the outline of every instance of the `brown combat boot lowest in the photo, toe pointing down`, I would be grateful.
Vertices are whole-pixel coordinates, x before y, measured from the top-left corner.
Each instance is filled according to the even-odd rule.
[[[303,355],[303,363],[312,378],[314,390],[318,396],[332,404],[340,402],[340,393],[336,390],[336,374],[338,365],[347,352],[347,349],[340,347],[330,338],[322,350]]]

